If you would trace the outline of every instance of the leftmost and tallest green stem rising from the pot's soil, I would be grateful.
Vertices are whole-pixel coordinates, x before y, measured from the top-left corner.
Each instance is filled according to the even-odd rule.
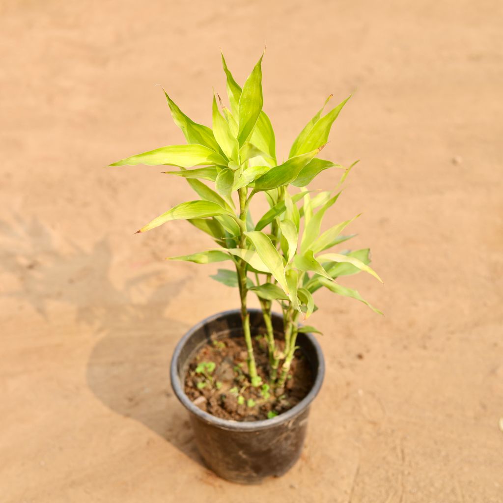
[[[246,200],[246,189],[243,187],[239,189],[239,220],[242,222],[240,225],[241,235],[239,246],[241,248],[245,247],[246,236],[244,232],[246,230],[246,212],[248,209],[248,201]],[[239,259],[236,264],[237,270],[237,278],[238,278],[238,286],[239,286],[239,298],[241,300],[241,321],[243,325],[243,336],[244,343],[246,344],[246,351],[248,353],[248,358],[246,359],[246,363],[248,364],[248,373],[250,376],[251,384],[254,386],[259,385],[259,377],[257,375],[257,365],[255,363],[255,355],[253,352],[253,343],[251,342],[251,333],[250,333],[250,316],[248,313],[248,309],[246,307],[246,296],[248,293],[248,288],[246,286],[246,262],[244,260]]]

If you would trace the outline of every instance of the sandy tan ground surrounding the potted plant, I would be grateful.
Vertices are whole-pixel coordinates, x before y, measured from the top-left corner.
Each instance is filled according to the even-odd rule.
[[[502,502],[501,2],[211,4],[0,3],[0,500]],[[323,153],[362,160],[331,216],[364,212],[354,245],[385,284],[344,284],[386,316],[318,295],[302,459],[242,487],[202,466],[168,380],[235,292],[162,261],[210,244],[185,222],[133,235],[183,180],[103,166],[182,142],[156,84],[208,123],[219,46],[242,81],[265,43],[280,154],[353,94]]]

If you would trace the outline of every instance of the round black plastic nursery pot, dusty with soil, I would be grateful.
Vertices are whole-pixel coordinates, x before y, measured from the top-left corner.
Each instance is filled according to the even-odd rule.
[[[262,311],[249,309],[251,334],[264,325]],[[275,331],[283,331],[283,317],[273,313]],[[310,333],[299,333],[297,346],[311,366],[314,383],[291,409],[265,421],[239,422],[213,416],[194,405],[184,392],[187,367],[210,337],[242,337],[240,311],[214,314],[191,328],[178,343],[171,361],[171,384],[190,414],[199,452],[220,477],[242,484],[257,484],[281,476],[298,460],[306,435],[309,407],[318,394],[325,366],[323,354]]]

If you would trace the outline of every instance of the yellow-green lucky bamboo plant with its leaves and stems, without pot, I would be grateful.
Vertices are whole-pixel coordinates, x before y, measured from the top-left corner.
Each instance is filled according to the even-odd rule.
[[[341,192],[322,191],[314,195],[306,188],[318,174],[331,168],[343,170],[341,186],[355,164],[345,169],[318,157],[348,99],[323,115],[330,96],[293,142],[288,160],[278,164],[274,130],[262,109],[262,58],[241,88],[222,55],[230,108],[218,97],[219,108],[213,96],[212,128],[192,121],[164,91],[173,119],[187,144],[157,148],[110,165],[177,166],[178,170],[165,173],[185,178],[197,193],[200,199],[178,204],[138,232],[171,220],[187,220],[211,236],[215,247],[171,260],[232,263],[233,270],[219,269],[212,278],[238,288],[249,382],[269,389],[284,386],[294,358],[297,333],[318,332],[312,326],[298,325],[300,317],[305,320],[317,309],[313,300],[316,290],[326,288],[355,298],[380,313],[356,290],[335,280],[361,271],[381,280],[368,265],[369,249],[327,251],[354,236],[342,232],[359,216],[320,232],[325,212],[336,203]],[[298,191],[293,192],[292,188]],[[254,223],[249,204],[258,195],[267,199],[270,209]],[[264,315],[270,367],[268,383],[263,383],[257,373],[247,311],[248,292],[257,295]],[[283,312],[284,346],[281,349],[271,321],[274,301]]]

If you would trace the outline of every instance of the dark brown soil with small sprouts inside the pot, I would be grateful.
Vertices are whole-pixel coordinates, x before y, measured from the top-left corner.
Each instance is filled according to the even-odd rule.
[[[200,409],[217,417],[234,421],[259,421],[274,417],[296,405],[313,384],[309,363],[297,350],[283,388],[275,387],[269,378],[267,345],[263,336],[253,338],[257,372],[265,388],[249,383],[246,347],[242,337],[212,338],[189,364],[185,393]],[[282,349],[283,341],[277,340]],[[202,369],[205,363],[214,362]],[[199,369],[198,369],[198,366]],[[205,373],[202,372],[205,371]],[[207,370],[211,370],[211,373]],[[280,369],[281,370],[281,369]],[[206,374],[206,375],[205,375]]]

